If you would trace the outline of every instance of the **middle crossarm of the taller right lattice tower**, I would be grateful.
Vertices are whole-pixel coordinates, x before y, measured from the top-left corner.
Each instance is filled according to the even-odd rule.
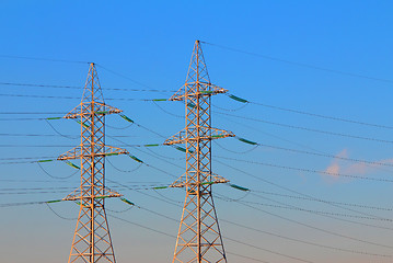
[[[184,128],[183,130],[178,132],[174,136],[167,138],[164,141],[164,145],[178,145],[185,144],[187,141],[196,141],[196,140],[212,140],[219,138],[227,138],[227,137],[234,137],[235,135],[232,132],[218,129],[218,128],[209,128],[209,127],[201,127],[205,129],[210,130],[210,135],[199,136],[199,137],[190,137],[188,136],[189,133],[193,133],[193,127]]]

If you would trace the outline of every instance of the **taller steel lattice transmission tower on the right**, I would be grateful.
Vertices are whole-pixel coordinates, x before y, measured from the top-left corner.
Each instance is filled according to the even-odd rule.
[[[233,137],[211,127],[211,95],[227,90],[211,84],[200,42],[196,41],[185,84],[170,100],[184,101],[186,127],[165,140],[185,144],[186,172],[172,187],[185,187],[186,197],[177,233],[174,262],[227,262],[211,185],[228,181],[211,172],[211,140]]]

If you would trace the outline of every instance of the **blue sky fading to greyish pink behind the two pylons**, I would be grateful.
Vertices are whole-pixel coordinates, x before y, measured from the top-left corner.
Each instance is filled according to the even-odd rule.
[[[140,99],[169,98],[184,83],[196,39],[215,44],[203,44],[212,83],[259,103],[243,107],[226,95],[212,103],[215,127],[265,145],[253,149],[234,138],[212,144],[213,171],[252,190],[244,196],[213,186],[229,262],[258,262],[235,254],[271,263],[392,262],[392,1],[368,0],[1,1],[0,262],[66,262],[72,241],[74,204],[4,207],[62,198],[79,183],[78,173],[49,176],[74,173],[62,162],[43,163],[46,172],[37,163],[7,163],[55,158],[79,144],[72,121],[51,121],[56,132],[45,121],[23,119],[62,116],[80,102],[89,65],[50,59],[96,62],[106,102],[162,135],[127,127],[114,115],[107,117],[108,136],[124,136],[128,145],[161,144],[184,127],[184,105]],[[107,163],[108,185],[145,208],[118,213],[128,207],[107,201],[117,261],[171,262],[175,240],[140,226],[176,236],[176,221],[149,210],[178,220],[184,192],[135,188],[172,183],[169,174],[184,172],[183,152],[106,142],[153,167],[128,157]]]

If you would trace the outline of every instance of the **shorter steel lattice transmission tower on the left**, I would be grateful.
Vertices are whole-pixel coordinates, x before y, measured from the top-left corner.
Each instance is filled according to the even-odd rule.
[[[79,216],[68,262],[116,262],[104,208],[105,198],[120,194],[105,186],[105,157],[128,153],[105,145],[105,115],[122,111],[105,104],[95,65],[91,64],[81,103],[63,118],[81,126],[81,142],[58,160],[80,159],[81,184],[65,201],[79,204]]]

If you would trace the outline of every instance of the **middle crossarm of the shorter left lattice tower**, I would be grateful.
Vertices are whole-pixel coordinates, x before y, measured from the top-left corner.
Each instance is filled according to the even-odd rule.
[[[105,151],[104,152],[93,152],[93,153],[82,153],[83,147],[90,147],[90,146],[78,146],[72,148],[71,150],[67,151],[66,153],[62,153],[57,158],[59,161],[65,160],[72,160],[72,159],[79,159],[79,158],[88,158],[88,157],[106,157],[106,156],[118,156],[118,155],[128,155],[129,152],[126,149],[122,149],[118,147],[113,146],[104,146]],[[100,149],[101,147],[97,147]]]

